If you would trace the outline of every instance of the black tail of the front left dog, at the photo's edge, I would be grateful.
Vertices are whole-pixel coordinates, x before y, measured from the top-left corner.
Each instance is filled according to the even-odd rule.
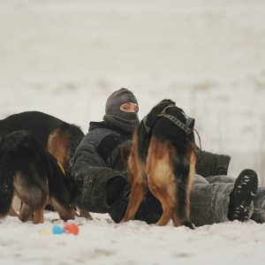
[[[0,161],[0,219],[7,216],[11,208],[14,192],[13,174],[13,170]]]

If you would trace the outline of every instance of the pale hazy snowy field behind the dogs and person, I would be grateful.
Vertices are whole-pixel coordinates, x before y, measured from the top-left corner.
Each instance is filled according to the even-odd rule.
[[[140,118],[170,98],[202,149],[265,186],[264,49],[264,0],[0,0],[0,118],[41,110],[86,133],[120,87]]]

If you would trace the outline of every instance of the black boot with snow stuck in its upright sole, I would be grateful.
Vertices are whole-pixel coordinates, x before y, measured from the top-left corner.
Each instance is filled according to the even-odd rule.
[[[243,170],[230,195],[228,219],[246,222],[251,215],[252,204],[258,189],[258,176],[254,170]]]

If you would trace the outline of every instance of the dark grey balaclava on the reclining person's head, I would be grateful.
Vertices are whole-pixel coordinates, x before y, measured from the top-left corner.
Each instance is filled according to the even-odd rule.
[[[116,125],[126,133],[133,133],[140,121],[137,112],[119,110],[119,107],[126,102],[133,102],[138,105],[136,97],[129,89],[120,88],[112,93],[106,102],[103,120],[106,124]]]

